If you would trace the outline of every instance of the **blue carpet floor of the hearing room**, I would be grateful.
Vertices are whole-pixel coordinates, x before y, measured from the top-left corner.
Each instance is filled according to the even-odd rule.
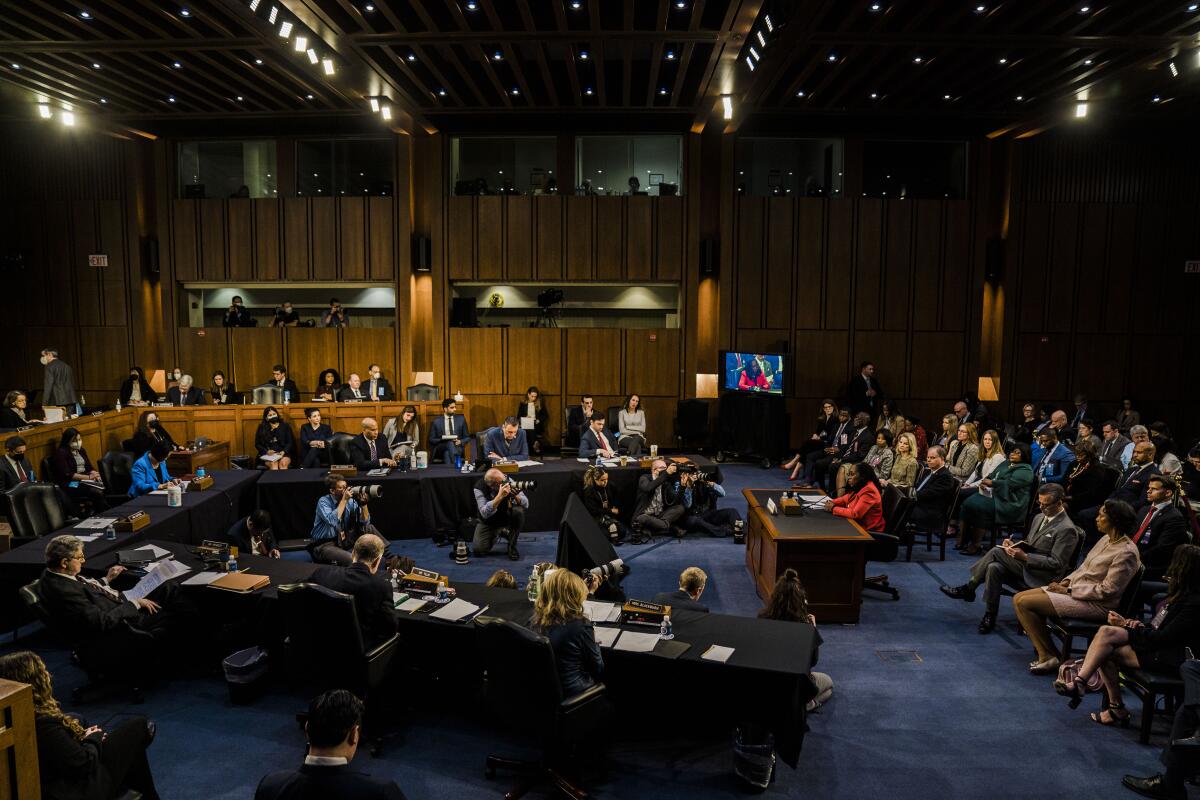
[[[743,512],[743,487],[785,486],[778,469],[726,465],[725,475],[730,498],[724,505]],[[396,549],[463,581],[482,581],[504,567],[523,583],[535,561],[553,559],[554,547],[554,534],[526,535],[521,561],[499,557],[472,559],[466,566],[454,565],[444,548],[427,541],[398,542]],[[625,582],[631,596],[672,589],[683,567],[698,565],[709,575],[703,600],[714,612],[752,616],[760,608],[743,551],[728,540],[689,539],[620,551],[632,566]],[[1051,678],[1026,673],[1032,648],[1018,634],[1007,600],[1000,628],[983,637],[976,633],[982,603],[968,606],[938,593],[940,584],[966,578],[968,559],[949,554],[940,563],[936,551],[917,551],[913,558],[912,564],[871,570],[892,577],[899,602],[868,593],[859,625],[821,627],[818,668],[833,676],[834,696],[810,716],[799,769],[782,766],[764,796],[1135,796],[1120,786],[1121,776],[1160,769],[1165,718],[1156,722],[1153,744],[1142,746],[1133,727],[1103,728],[1087,718],[1098,704],[1094,696],[1069,710],[1054,693]],[[42,654],[55,673],[58,696],[70,698],[79,674],[66,654],[38,633],[24,637],[20,645]],[[12,648],[10,643],[4,650]],[[1138,699],[1127,696],[1126,702],[1136,720]],[[293,766],[302,757],[304,740],[294,722],[302,704],[304,698],[280,688],[252,706],[234,706],[215,679],[175,680],[149,692],[137,712],[158,723],[150,757],[162,795],[251,798],[264,772]],[[703,712],[703,698],[696,708]],[[97,700],[78,710],[102,722],[130,709]],[[482,765],[493,750],[511,752],[499,746],[502,741],[482,723],[455,715],[444,727],[409,726],[382,758],[361,753],[355,766],[394,777],[413,800],[500,796],[506,784],[486,781]],[[743,795],[731,777],[727,738],[616,746],[611,762],[605,782],[589,787],[596,796]]]

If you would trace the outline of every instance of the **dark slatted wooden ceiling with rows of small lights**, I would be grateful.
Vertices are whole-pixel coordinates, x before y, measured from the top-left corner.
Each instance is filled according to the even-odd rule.
[[[1187,0],[256,5],[0,4],[4,110],[36,115],[44,98],[152,130],[212,116],[370,120],[368,97],[380,96],[402,130],[469,130],[484,118],[732,130],[756,116],[865,115],[980,118],[1020,133],[1066,121],[1084,96],[1094,115],[1189,114],[1200,74],[1200,8]],[[318,64],[294,50],[296,35]]]

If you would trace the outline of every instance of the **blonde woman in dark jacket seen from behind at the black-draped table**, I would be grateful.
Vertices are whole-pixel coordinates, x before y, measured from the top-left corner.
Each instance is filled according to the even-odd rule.
[[[569,570],[553,570],[533,606],[532,627],[550,639],[564,698],[592,688],[604,676],[595,630],[583,614],[587,596],[583,578]]]

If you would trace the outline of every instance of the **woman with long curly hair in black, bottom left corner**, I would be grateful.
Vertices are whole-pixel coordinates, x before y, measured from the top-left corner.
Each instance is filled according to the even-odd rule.
[[[145,717],[128,716],[109,728],[84,727],[62,711],[49,670],[29,650],[0,656],[0,678],[32,687],[43,798],[107,799],[133,789],[143,800],[157,800],[146,758],[155,727]]]

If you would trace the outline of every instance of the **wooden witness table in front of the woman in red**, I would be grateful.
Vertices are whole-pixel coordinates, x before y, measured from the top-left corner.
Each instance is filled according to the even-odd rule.
[[[781,489],[743,489],[746,525],[746,569],[758,596],[766,601],[787,567],[800,576],[809,596],[809,608],[821,622],[858,622],[863,604],[863,570],[871,535],[853,519],[824,511],[804,516],[778,516],[767,510],[767,500],[778,506]],[[814,500],[823,492],[806,492]]]

